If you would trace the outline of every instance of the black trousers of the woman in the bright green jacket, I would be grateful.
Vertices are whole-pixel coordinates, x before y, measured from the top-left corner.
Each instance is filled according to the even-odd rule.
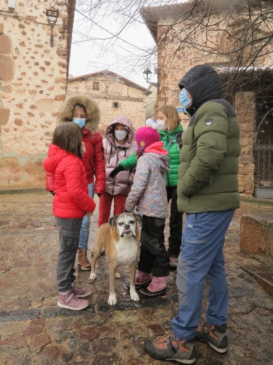
[[[178,212],[177,208],[177,189],[176,186],[166,187],[168,203],[171,200],[170,211],[170,236],[169,236],[169,255],[178,257],[181,248],[182,237],[182,216],[183,213]]]

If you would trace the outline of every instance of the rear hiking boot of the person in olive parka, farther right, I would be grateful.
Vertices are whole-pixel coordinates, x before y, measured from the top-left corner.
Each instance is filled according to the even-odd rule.
[[[204,322],[198,325],[195,338],[196,340],[206,341],[215,351],[223,354],[227,351],[227,325],[214,326]]]

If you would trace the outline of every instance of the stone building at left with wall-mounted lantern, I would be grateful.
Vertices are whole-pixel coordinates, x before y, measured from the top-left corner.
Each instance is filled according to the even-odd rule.
[[[42,166],[66,97],[75,0],[0,2],[0,190],[45,186]]]

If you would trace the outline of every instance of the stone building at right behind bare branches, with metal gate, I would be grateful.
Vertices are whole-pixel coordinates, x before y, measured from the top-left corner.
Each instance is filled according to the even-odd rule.
[[[256,1],[256,3],[258,2]],[[198,19],[201,21],[200,17],[205,14],[209,6],[213,6],[213,2],[210,0],[204,1],[204,4],[200,2],[200,6],[204,6],[204,9],[198,10],[192,9],[192,3],[146,7],[140,11],[142,18],[157,44],[157,81],[159,87],[154,114],[156,115],[158,108],[164,104],[181,107],[178,98],[180,91],[178,82],[191,67],[202,63],[213,66],[219,72],[223,84],[226,84],[225,81],[227,79],[229,81],[232,79],[232,82],[230,82],[231,87],[229,89],[227,88],[224,97],[235,107],[240,123],[241,154],[239,157],[239,191],[242,195],[253,196],[255,188],[262,184],[269,184],[273,189],[272,43],[265,45],[265,56],[256,60],[256,64],[254,64],[255,68],[252,70],[242,70],[238,80],[238,78],[235,78],[236,73],[232,71],[233,63],[230,61],[228,54],[228,51],[234,47],[232,38],[227,38],[223,42],[226,46],[225,56],[220,54],[217,56],[210,52],[205,52],[205,47],[202,47],[203,44],[206,44],[209,48],[209,45],[219,43],[219,39],[222,37],[220,29],[221,27],[224,29],[225,22],[227,21],[225,18],[226,13],[224,12],[225,7],[223,6],[222,11],[220,11],[221,6],[219,3],[217,5],[218,8],[214,9],[214,12],[211,12],[211,17],[204,20],[204,23],[205,21],[209,21],[211,24],[214,22],[216,24],[214,29],[212,26],[209,29],[205,29],[206,31],[194,32],[195,28],[199,25]],[[224,3],[227,4],[227,2]],[[235,2],[233,1],[233,3]],[[261,6],[266,6],[268,10],[270,8],[272,9],[273,1],[271,0],[260,1],[260,3],[256,6],[256,14],[254,14],[256,16]],[[190,15],[194,11],[200,11],[199,16],[198,13],[195,14],[195,24],[192,20],[191,22],[189,20]],[[248,9],[246,9],[245,14],[247,14],[247,11]],[[234,9],[234,12],[236,12],[236,9]],[[239,25],[243,24],[242,20],[243,16],[240,17]],[[268,22],[261,21],[258,30],[255,30],[255,32],[263,32],[265,31],[263,27],[267,26]],[[272,22],[269,26],[272,27]],[[168,29],[168,32],[165,33],[166,29]],[[271,31],[273,32],[273,29]],[[186,34],[186,32],[188,33]],[[268,32],[268,29],[266,29],[266,32]],[[255,48],[253,47],[250,52],[254,52],[254,50]],[[240,85],[239,81],[242,81]],[[261,81],[262,87],[260,87]],[[242,84],[244,85],[243,87],[241,87]],[[259,98],[258,94],[261,95]],[[265,115],[266,118],[262,120],[262,117]],[[184,113],[180,113],[180,116],[185,125],[188,117]],[[261,121],[265,122],[262,128],[260,125]],[[264,133],[259,133],[261,130]],[[264,144],[265,149],[271,149],[266,162],[267,165],[263,170],[271,171],[268,178],[269,181],[263,181],[262,176],[257,177],[257,170],[259,168],[257,165],[258,159],[254,158],[254,147],[258,143],[257,135],[258,139],[261,140],[260,142]]]

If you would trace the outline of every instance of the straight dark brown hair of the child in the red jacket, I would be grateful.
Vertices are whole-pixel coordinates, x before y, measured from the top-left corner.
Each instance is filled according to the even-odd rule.
[[[68,153],[82,158],[83,131],[80,126],[73,122],[61,123],[53,133],[53,145],[63,148]]]

